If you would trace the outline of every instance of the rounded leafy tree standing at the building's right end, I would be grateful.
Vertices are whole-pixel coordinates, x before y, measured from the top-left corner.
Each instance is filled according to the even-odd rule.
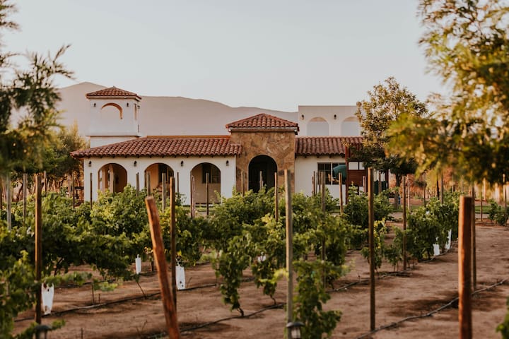
[[[370,167],[395,174],[396,186],[399,186],[402,176],[414,173],[415,166],[411,158],[387,152],[391,138],[387,130],[402,115],[425,117],[426,105],[392,77],[387,78],[385,84],[375,85],[373,90],[368,91],[368,96],[368,100],[357,103],[356,115],[361,121],[364,138],[363,147],[356,157]]]

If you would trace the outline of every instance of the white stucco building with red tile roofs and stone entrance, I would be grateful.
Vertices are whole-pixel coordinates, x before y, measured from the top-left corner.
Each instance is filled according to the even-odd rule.
[[[355,106],[299,106],[298,112],[280,117],[245,112],[242,119],[221,121],[227,117],[207,112],[180,117],[146,112],[139,95],[115,87],[86,97],[90,148],[72,153],[83,159],[86,201],[97,199],[98,191],[122,191],[127,184],[160,189],[163,173],[175,177],[186,204],[192,195],[206,203],[207,178],[209,191],[228,197],[233,189],[274,186],[274,173],[282,185],[288,169],[294,191],[310,195],[316,189],[313,177],[325,172],[326,186],[337,198],[339,165],[349,169],[344,178],[349,184],[361,186],[365,175],[362,163],[349,158],[349,149],[361,143]],[[207,124],[215,133],[203,133]],[[215,200],[210,194],[209,202]]]

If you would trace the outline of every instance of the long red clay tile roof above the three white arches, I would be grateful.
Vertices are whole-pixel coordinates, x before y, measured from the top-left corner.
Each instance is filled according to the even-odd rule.
[[[163,157],[240,155],[242,147],[230,143],[229,136],[221,137],[153,137],[137,138],[87,150],[71,152],[72,157]]]

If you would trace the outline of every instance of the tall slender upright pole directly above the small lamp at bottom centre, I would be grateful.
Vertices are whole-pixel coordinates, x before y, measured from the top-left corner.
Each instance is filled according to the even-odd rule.
[[[293,321],[293,222],[290,192],[290,173],[285,169],[286,203],[286,269],[288,270],[288,290],[286,292],[286,323]]]

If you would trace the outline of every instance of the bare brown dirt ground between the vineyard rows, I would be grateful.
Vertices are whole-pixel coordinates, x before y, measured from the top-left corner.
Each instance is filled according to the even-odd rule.
[[[509,296],[509,280],[505,281],[509,279],[508,244],[509,228],[478,220],[476,290],[480,292],[473,297],[474,338],[501,338],[495,328],[505,316],[505,300]],[[346,261],[351,271],[337,282],[337,289],[331,292],[332,298],[325,306],[343,313],[332,338],[458,337],[455,302],[432,316],[402,321],[426,315],[457,297],[457,242],[453,242],[447,253],[417,263],[399,275],[392,274],[392,266],[382,266],[376,279],[376,327],[402,322],[373,334],[369,333],[368,263],[359,251],[349,253]],[[165,338],[160,335],[165,331],[165,318],[157,295],[157,275],[150,273],[148,263],[144,263],[143,270],[141,288],[134,282],[125,282],[112,292],[96,292],[96,305],[92,302],[90,285],[58,288],[52,314],[44,316],[43,323],[64,319],[66,325],[48,333],[47,338]],[[182,338],[283,338],[285,281],[279,283],[276,305],[252,281],[242,283],[240,303],[246,316],[240,318],[238,311],[230,311],[221,301],[210,264],[188,268],[186,278],[187,290],[177,292]],[[249,278],[249,272],[245,278]],[[483,290],[487,287],[491,288]],[[117,300],[124,301],[115,303]],[[16,328],[25,328],[31,319],[33,312],[22,314]]]

